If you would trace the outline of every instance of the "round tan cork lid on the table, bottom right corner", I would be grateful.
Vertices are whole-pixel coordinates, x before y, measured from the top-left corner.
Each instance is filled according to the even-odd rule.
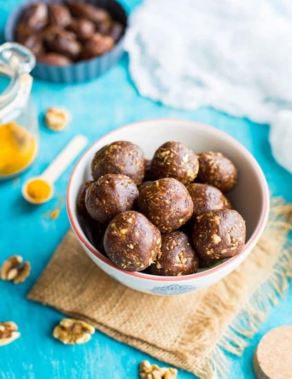
[[[292,326],[276,327],[265,334],[253,365],[257,379],[292,378]]]

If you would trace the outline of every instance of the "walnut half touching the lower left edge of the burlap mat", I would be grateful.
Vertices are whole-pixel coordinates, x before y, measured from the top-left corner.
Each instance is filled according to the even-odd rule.
[[[65,345],[85,344],[95,332],[90,324],[73,318],[63,318],[53,330],[53,336]]]

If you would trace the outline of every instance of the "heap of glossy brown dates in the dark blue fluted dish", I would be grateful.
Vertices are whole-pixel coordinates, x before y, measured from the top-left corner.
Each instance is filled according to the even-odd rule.
[[[109,52],[124,30],[106,9],[88,3],[37,2],[23,9],[15,40],[38,62],[66,66]]]

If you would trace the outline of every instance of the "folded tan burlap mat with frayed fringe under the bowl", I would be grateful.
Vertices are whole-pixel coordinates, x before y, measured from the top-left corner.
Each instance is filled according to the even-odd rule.
[[[212,287],[172,297],[117,283],[88,258],[69,231],[28,298],[84,319],[201,378],[224,376],[224,350],[240,354],[287,288],[291,216],[292,205],[274,200],[262,238],[236,271]]]

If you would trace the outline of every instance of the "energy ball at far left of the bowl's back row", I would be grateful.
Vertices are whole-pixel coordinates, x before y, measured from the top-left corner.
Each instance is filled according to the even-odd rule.
[[[108,173],[123,174],[140,184],[145,175],[145,156],[134,143],[116,141],[95,153],[91,162],[94,180]]]

